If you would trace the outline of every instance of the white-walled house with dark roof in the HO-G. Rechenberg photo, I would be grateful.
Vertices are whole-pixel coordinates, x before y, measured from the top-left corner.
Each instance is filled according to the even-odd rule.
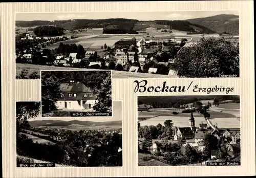
[[[57,109],[92,109],[97,102],[89,87],[74,80],[60,84],[60,91],[61,97],[56,102]]]

